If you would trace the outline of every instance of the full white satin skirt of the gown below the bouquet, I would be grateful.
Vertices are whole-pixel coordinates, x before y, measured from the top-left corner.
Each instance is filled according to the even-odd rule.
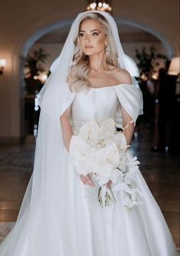
[[[28,205],[2,242],[1,256],[177,255],[162,212],[140,171],[137,181],[143,204],[126,210],[119,200],[101,208],[97,188],[82,184],[65,149],[61,159],[61,166],[48,180],[47,194],[33,205],[33,211]],[[30,183],[32,180],[33,176]]]

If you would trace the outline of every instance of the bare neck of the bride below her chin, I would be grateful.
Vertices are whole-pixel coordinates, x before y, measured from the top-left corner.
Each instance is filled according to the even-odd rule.
[[[90,55],[89,56],[90,61],[90,69],[92,71],[102,71],[104,69],[107,69],[107,63],[106,63],[106,57],[104,52],[100,52],[97,55]]]

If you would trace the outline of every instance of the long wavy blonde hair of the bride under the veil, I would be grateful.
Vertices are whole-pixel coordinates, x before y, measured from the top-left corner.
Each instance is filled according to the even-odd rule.
[[[87,76],[90,72],[89,57],[84,55],[82,49],[80,48],[79,37],[80,25],[84,20],[87,19],[97,19],[98,22],[100,22],[100,24],[103,26],[106,37],[108,39],[108,45],[106,47],[106,63],[115,67],[118,66],[116,44],[114,42],[110,25],[106,21],[106,18],[104,18],[103,15],[95,12],[84,15],[77,25],[77,30],[74,32],[74,58],[69,73],[70,80],[68,81],[70,91],[82,91],[91,87],[90,81],[87,79]]]

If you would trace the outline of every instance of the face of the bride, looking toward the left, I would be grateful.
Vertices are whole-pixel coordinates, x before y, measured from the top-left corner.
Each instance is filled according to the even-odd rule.
[[[80,25],[80,48],[85,55],[95,55],[104,52],[106,33],[103,25],[96,19],[84,20]]]

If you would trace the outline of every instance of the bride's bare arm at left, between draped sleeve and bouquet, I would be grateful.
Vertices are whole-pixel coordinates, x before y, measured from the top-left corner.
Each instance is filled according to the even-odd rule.
[[[70,139],[73,135],[73,131],[70,126],[69,115],[70,115],[70,108],[67,108],[67,110],[64,111],[64,113],[60,117],[62,134],[64,139],[64,146],[67,148],[67,151],[69,151]]]

